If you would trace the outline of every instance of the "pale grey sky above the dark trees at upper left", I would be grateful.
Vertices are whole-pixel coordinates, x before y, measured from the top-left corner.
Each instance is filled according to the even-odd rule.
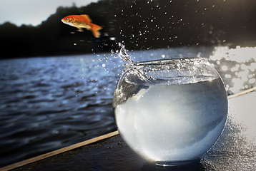
[[[0,24],[36,26],[54,14],[59,6],[86,6],[98,0],[0,0]]]

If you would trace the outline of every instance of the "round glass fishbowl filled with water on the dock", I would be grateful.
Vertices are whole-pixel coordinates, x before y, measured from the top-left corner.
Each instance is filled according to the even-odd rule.
[[[227,93],[205,58],[127,65],[113,98],[114,118],[127,145],[157,165],[198,160],[220,137]]]

